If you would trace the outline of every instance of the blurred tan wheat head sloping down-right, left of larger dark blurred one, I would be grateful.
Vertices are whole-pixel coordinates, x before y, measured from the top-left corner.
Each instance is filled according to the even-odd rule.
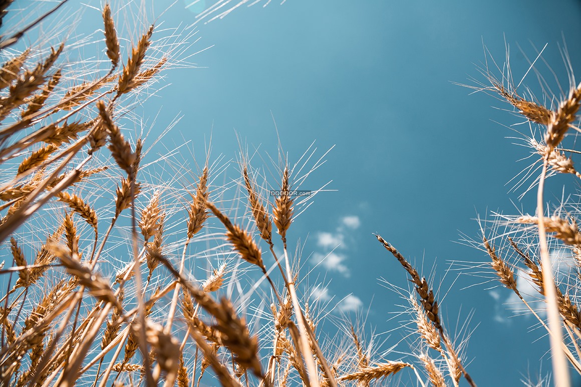
[[[58,243],[52,243],[49,246],[52,254],[60,259],[67,273],[77,277],[79,283],[89,289],[89,294],[103,302],[112,303],[117,309],[121,305],[107,282],[100,274],[95,273],[90,267],[85,266],[70,255],[69,249]]]

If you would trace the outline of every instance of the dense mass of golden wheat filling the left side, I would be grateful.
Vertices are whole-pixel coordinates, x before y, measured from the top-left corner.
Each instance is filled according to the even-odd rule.
[[[107,4],[102,20],[106,69],[66,63],[76,42],[19,52],[28,26],[0,37],[0,385],[365,386],[413,368],[372,358],[355,329],[347,345],[319,339],[287,248],[304,202],[285,192],[305,163],[281,163],[269,202],[242,157],[238,218],[212,183],[224,164],[206,159],[178,193],[147,181],[124,103],[171,57],[151,55],[155,26],[130,42]]]

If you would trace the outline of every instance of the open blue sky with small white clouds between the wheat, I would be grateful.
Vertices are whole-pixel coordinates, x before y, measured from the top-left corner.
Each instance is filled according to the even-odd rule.
[[[189,0],[179,0],[164,10],[167,3],[146,5],[149,15],[163,13],[162,26],[171,28],[195,22],[204,2],[186,9]],[[546,374],[548,339],[530,329],[530,316],[511,317],[504,304],[512,302],[510,293],[491,289],[497,282],[482,284],[478,270],[454,265],[447,271],[453,261],[488,261],[457,243],[463,234],[478,238],[478,214],[535,211],[534,195],[519,201],[524,188],[510,192],[511,179],[528,165],[517,160],[529,153],[507,138],[515,136],[507,126],[522,120],[501,110],[508,109],[505,103],[455,83],[485,81],[477,70],[486,59],[483,44],[500,64],[510,46],[518,80],[528,69],[526,58],[547,44],[543,58],[566,84],[560,47],[566,43],[577,69],[581,3],[263,3],[198,24],[199,40],[180,54],[200,51],[189,59],[198,67],[168,71],[168,85],[148,101],[147,112],[156,117],[153,138],[183,116],[156,151],[190,141],[203,163],[210,137],[212,155],[226,159],[235,159],[239,141],[276,157],[280,141],[293,162],[313,141],[318,156],[333,148],[300,187],[315,190],[332,181],[329,191],[315,196],[289,230],[293,248],[304,244],[303,274],[310,271],[315,295],[329,307],[338,304],[337,317],[367,316],[368,331],[383,333],[383,350],[404,338],[393,329],[408,321],[399,315],[405,302],[383,281],[407,289],[407,277],[375,241],[377,232],[424,275],[433,269],[452,334],[470,317],[466,356],[479,385],[518,385],[523,375]],[[92,20],[83,28],[100,23],[95,9],[76,0],[69,6]],[[539,69],[550,77],[544,64]],[[538,89],[533,73],[524,84]],[[558,180],[547,198],[560,196],[564,181],[570,184]],[[397,347],[406,349],[405,341]],[[499,371],[490,372],[491,364],[500,364]]]

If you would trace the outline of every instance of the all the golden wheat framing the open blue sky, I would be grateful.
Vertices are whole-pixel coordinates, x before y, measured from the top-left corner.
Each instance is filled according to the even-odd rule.
[[[0,17],[10,3],[0,2]],[[121,37],[119,16],[105,4],[95,34],[102,58],[73,63],[71,52],[91,42],[59,38],[58,28],[24,46],[21,38],[51,17],[0,37],[2,386],[369,386],[397,384],[404,372],[422,386],[476,386],[433,284],[380,235],[414,288],[406,295],[418,338],[411,353],[379,356],[353,325],[336,341],[320,332],[300,289],[299,253],[288,248],[309,198],[264,195],[297,189],[304,170],[320,165],[307,165],[315,150],[294,164],[279,157],[278,181],[266,181],[248,152],[234,184],[217,183],[227,163],[210,153],[196,173],[180,171],[189,181],[155,180],[149,167],[164,160],[145,163],[148,138],[128,128],[141,124],[138,96],[180,61],[188,34],[171,41],[175,31],[157,36],[151,24],[135,26],[137,38]],[[482,88],[540,133],[527,138],[541,166],[539,205],[483,227],[472,242],[550,332],[555,379],[566,386],[569,365],[581,372],[581,312],[576,277],[556,278],[549,253],[562,249],[581,267],[581,234],[575,207],[543,209],[543,187],[556,173],[581,177],[575,150],[562,145],[579,130],[581,88],[543,106],[519,95],[510,76],[485,74]],[[546,300],[547,321],[521,295],[521,277]]]

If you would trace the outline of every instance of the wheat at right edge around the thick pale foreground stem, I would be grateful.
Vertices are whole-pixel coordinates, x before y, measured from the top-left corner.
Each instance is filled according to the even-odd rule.
[[[502,74],[500,78],[492,74],[488,64],[482,70],[487,83],[475,89],[510,103],[515,113],[526,119],[518,124],[530,132],[521,133],[520,138],[531,150],[526,159],[533,162],[519,176],[516,187],[526,187],[524,184],[532,181],[525,193],[536,188],[537,200],[533,215],[494,213],[492,220],[479,221],[480,237],[470,239],[469,244],[487,253],[496,279],[510,289],[523,303],[523,309],[532,313],[542,329],[546,329],[555,385],[569,386],[569,370],[581,373],[579,206],[572,202],[571,196],[569,199],[564,196],[552,206],[544,199],[548,196],[545,195],[547,178],[568,175],[573,180],[568,180],[567,190],[575,190],[581,177],[573,163],[573,157],[579,153],[575,143],[579,132],[581,84],[576,84],[566,50],[562,54],[566,58],[569,83],[567,87],[558,85],[560,92],[551,91],[550,83],[535,67],[537,60],[526,72],[536,73],[544,94],[541,100],[533,96],[524,80],[514,82],[508,51],[503,70],[492,60],[496,71]],[[562,187],[558,191],[565,192]]]

